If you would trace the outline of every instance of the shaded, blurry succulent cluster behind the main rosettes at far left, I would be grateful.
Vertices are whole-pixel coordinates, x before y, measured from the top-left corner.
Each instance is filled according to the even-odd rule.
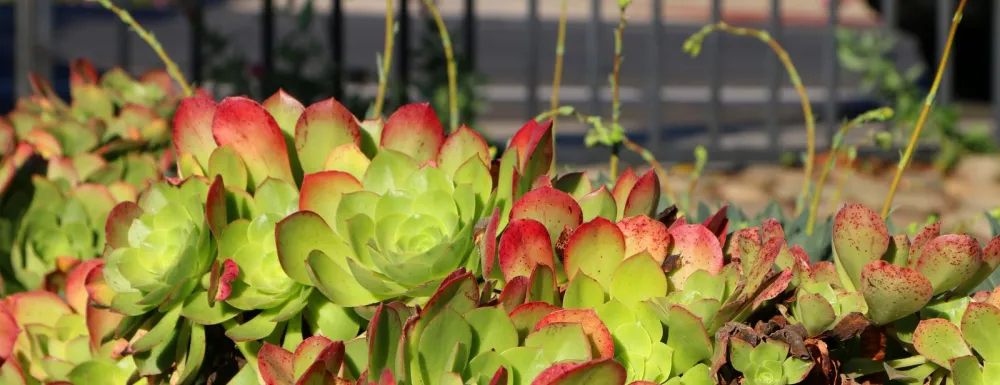
[[[0,271],[8,291],[60,286],[101,255],[115,204],[172,172],[170,119],[183,95],[165,71],[70,68],[67,103],[32,76],[34,94],[0,118]]]

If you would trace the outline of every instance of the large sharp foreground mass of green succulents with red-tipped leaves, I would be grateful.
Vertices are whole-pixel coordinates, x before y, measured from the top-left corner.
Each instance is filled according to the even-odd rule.
[[[97,246],[69,222],[48,233],[68,246],[35,244],[100,258],[57,258],[61,284],[4,299],[0,378],[990,378],[1000,291],[980,284],[1000,238],[981,246],[936,224],[890,235],[847,205],[828,224],[831,257],[814,258],[790,241],[801,224],[660,207],[653,171],[611,185],[557,175],[549,122],[528,122],[493,159],[475,131],[446,135],[427,104],[359,120],[334,99],[305,106],[283,91],[262,103],[196,96],[172,125],[177,176],[103,201],[96,189],[69,195],[91,206],[59,213],[100,228]],[[62,196],[58,179],[36,180],[45,201]]]

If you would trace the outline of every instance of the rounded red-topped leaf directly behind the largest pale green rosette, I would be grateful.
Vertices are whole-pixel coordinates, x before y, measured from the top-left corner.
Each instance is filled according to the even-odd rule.
[[[444,128],[430,103],[407,104],[389,116],[379,142],[409,155],[418,164],[435,160],[444,144]]]

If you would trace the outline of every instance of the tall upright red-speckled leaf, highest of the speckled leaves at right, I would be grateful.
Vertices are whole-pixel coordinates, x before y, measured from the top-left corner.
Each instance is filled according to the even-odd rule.
[[[861,284],[861,270],[889,248],[889,228],[877,213],[860,204],[849,204],[833,219],[833,249],[854,284]]]

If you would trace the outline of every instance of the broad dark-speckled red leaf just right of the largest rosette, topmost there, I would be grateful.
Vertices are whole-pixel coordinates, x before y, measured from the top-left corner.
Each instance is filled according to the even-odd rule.
[[[575,229],[583,222],[583,211],[569,194],[554,187],[531,190],[514,202],[510,220],[533,219],[545,226],[552,245],[568,226]]]

